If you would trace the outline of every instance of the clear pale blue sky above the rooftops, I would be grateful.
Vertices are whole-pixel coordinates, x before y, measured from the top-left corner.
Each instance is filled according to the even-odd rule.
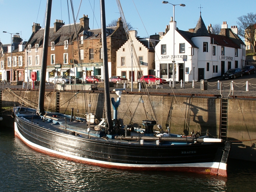
[[[44,28],[44,15],[47,0],[0,0],[0,41],[10,44],[11,35],[3,33],[20,33],[23,40],[28,40],[32,34],[33,22]],[[69,6],[67,6],[67,2]],[[88,15],[90,29],[100,28],[100,0],[73,0],[74,15],[78,19],[83,14]],[[195,28],[200,17],[206,27],[209,24],[227,22],[228,27],[238,26],[238,17],[247,13],[256,13],[256,0],[172,0],[171,4],[162,4],[162,0],[120,0],[127,23],[130,23],[138,36],[148,37],[158,32],[164,32],[173,16],[171,4],[185,4],[185,7],[175,6],[175,20],[180,30]],[[244,4],[242,4],[244,3]],[[79,9],[80,6],[80,9]],[[116,0],[105,0],[106,24],[120,17]],[[68,8],[70,16],[68,16]],[[78,12],[79,10],[79,12]],[[93,14],[94,13],[94,14]],[[63,20],[65,24],[74,23],[70,0],[53,0],[51,26],[55,20]],[[238,26],[239,27],[239,26]]]

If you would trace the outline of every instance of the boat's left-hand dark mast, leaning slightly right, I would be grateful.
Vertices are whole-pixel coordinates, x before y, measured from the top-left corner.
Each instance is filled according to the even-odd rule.
[[[45,82],[46,82],[46,66],[47,66],[51,9],[52,9],[52,0],[47,0],[46,20],[45,20],[45,27],[44,27],[43,52],[42,52],[42,64],[41,64],[41,71],[40,71],[38,108],[36,109],[36,114],[38,114],[38,115],[40,115],[40,114],[44,115],[44,94],[45,94]]]

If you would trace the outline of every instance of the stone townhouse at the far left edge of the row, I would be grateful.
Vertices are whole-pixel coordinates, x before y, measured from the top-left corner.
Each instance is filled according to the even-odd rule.
[[[24,48],[25,42],[19,35],[12,37],[12,44],[2,45],[0,48],[0,75],[1,80],[24,80]]]

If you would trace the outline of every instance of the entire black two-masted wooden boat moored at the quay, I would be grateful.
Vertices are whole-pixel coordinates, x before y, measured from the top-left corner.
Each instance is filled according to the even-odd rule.
[[[104,77],[108,80],[106,23],[104,0],[101,3],[102,45]],[[155,136],[156,121],[145,120],[143,133],[134,132],[132,126],[117,126],[116,108],[112,98],[114,120],[111,117],[110,91],[104,81],[106,120],[92,126],[88,119],[44,110],[44,91],[50,9],[48,0],[44,32],[43,59],[38,108],[15,107],[15,135],[34,150],[108,168],[128,170],[186,171],[227,176],[227,159],[230,142],[208,137],[183,137],[179,135]],[[116,90],[119,94],[119,90]],[[119,95],[120,96],[120,95]],[[90,116],[90,114],[89,114]],[[90,121],[90,118],[89,118]],[[104,129],[98,130],[103,126]]]

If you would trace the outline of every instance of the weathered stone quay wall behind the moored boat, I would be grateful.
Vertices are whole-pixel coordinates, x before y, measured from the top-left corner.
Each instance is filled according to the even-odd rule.
[[[110,97],[117,98],[117,95],[112,93]],[[143,93],[122,94],[118,118],[124,124],[142,126],[142,120],[155,120],[154,112],[151,110],[152,105],[163,130],[169,127],[174,134],[187,135],[191,135],[194,130],[200,132],[202,136],[208,132],[210,136],[219,137],[220,98],[152,95],[150,99],[151,101]],[[36,90],[2,91],[3,107],[24,104],[37,108],[37,100]],[[88,104],[91,104],[90,109]],[[55,111],[56,92],[46,91],[44,108]],[[60,92],[60,112],[71,114],[71,108],[74,108],[74,112],[79,113],[79,116],[91,112],[100,120],[104,118],[104,93]],[[253,140],[256,140],[255,109],[256,100],[229,99],[228,140],[237,141],[232,144],[230,158],[256,161],[256,148],[253,144]]]

